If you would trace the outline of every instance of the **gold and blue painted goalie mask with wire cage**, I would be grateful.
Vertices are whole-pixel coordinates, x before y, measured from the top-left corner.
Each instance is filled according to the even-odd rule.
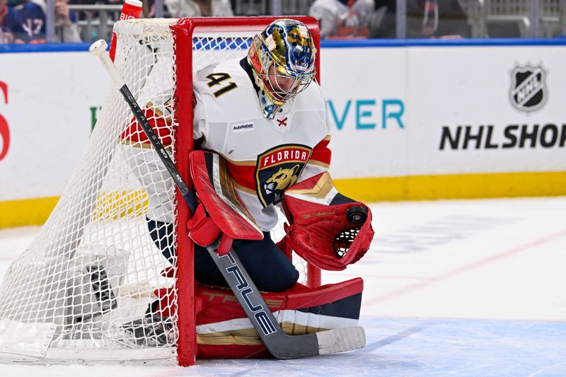
[[[253,37],[252,66],[263,116],[273,119],[284,103],[304,91],[315,74],[313,36],[304,23],[280,19]]]

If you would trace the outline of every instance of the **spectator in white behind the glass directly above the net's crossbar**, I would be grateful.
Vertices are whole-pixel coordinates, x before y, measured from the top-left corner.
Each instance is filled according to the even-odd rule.
[[[171,17],[231,17],[229,0],[164,0]]]

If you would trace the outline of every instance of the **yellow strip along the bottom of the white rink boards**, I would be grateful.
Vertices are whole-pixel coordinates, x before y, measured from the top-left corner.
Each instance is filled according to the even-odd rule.
[[[566,195],[566,171],[336,179],[334,185],[343,195],[362,202],[545,197]],[[124,203],[141,202],[141,205],[134,207],[135,212],[143,211],[147,205],[141,192],[133,192],[131,195],[122,193],[117,197],[108,195],[104,199],[98,199],[99,205],[110,202],[110,208],[121,207]],[[43,224],[58,200],[59,197],[44,197],[0,201],[0,228]],[[108,212],[98,215],[108,216]]]

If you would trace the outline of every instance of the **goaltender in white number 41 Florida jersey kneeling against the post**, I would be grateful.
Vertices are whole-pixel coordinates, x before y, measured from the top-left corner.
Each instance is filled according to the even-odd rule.
[[[213,243],[217,255],[236,253],[288,335],[357,324],[362,279],[307,287],[297,282],[299,272],[287,256],[292,249],[316,267],[342,270],[366,253],[374,236],[369,208],[337,192],[328,173],[330,127],[314,80],[315,57],[306,25],[279,19],[255,35],[246,57],[207,66],[193,81],[193,133],[200,148],[191,153],[190,170],[198,201],[187,228],[196,244],[195,295],[202,302],[196,318],[199,357],[274,354],[250,323],[253,315],[226,288],[233,286],[207,249]],[[144,108],[146,115],[156,111],[171,109]],[[137,134],[136,127],[133,121],[125,137]],[[146,158],[136,156],[132,166],[139,166],[135,158]],[[173,233],[173,222],[157,208],[171,206],[171,199],[151,184],[158,181],[151,175],[163,171],[139,172],[137,178],[149,195],[150,234],[173,264],[175,253],[166,246],[173,242],[163,240]],[[289,221],[287,236],[277,244],[270,237],[278,222],[275,206]],[[173,314],[162,304],[171,301],[168,294],[161,291],[146,318],[132,326],[139,339],[146,339],[147,325]],[[166,342],[168,327],[152,328]]]

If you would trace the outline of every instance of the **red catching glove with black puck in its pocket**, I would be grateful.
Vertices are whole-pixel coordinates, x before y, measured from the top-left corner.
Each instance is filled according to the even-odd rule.
[[[374,238],[371,211],[340,195],[330,175],[321,173],[286,190],[283,207],[291,226],[287,240],[316,267],[342,270],[357,262]]]

